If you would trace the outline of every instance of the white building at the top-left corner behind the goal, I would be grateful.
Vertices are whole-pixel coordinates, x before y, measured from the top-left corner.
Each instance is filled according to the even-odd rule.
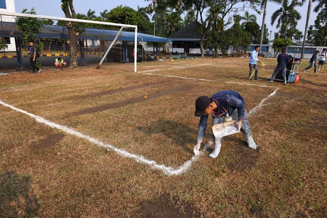
[[[1,11],[15,13],[15,0],[0,0],[0,12]],[[15,19],[12,16],[0,15],[0,22],[2,21],[15,22]],[[8,49],[6,49],[6,51],[16,51],[15,39],[13,37],[4,37],[4,39],[8,45]]]

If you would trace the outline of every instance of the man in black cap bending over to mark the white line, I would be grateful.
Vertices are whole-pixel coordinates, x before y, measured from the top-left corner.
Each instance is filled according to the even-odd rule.
[[[238,121],[238,130],[242,131],[249,148],[257,149],[257,145],[251,135],[250,123],[247,118],[243,97],[237,92],[225,90],[216,93],[211,98],[208,96],[201,96],[195,101],[194,115],[200,116],[197,144],[193,149],[195,155],[200,154],[199,149],[206,132],[208,115],[210,114],[212,114],[213,117],[213,125],[222,123],[225,116],[231,116],[233,120]],[[222,138],[215,137],[213,134],[215,148],[209,155],[209,158],[218,157],[221,139]]]

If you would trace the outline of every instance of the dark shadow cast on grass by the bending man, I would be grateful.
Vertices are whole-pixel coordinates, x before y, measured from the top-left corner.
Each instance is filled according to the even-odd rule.
[[[172,139],[175,144],[182,147],[185,151],[193,154],[193,150],[191,151],[186,145],[196,142],[194,135],[196,136],[197,131],[186,125],[164,119],[153,122],[149,127],[140,126],[138,129],[146,134],[161,133]]]

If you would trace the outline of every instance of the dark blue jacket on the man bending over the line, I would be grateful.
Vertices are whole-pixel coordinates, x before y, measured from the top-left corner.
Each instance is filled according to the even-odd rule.
[[[213,111],[215,116],[226,115],[226,113],[231,115],[234,109],[237,109],[238,119],[245,118],[244,99],[237,92],[231,90],[220,91],[213,95],[211,100],[214,101],[218,107],[218,111]]]

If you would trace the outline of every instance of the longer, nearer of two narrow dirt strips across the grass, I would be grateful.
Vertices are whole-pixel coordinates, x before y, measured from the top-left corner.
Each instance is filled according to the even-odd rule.
[[[129,105],[129,104],[143,102],[143,101],[146,101],[148,99],[154,99],[154,98],[162,97],[162,96],[165,96],[165,95],[173,94],[173,93],[176,93],[176,92],[185,91],[185,90],[188,90],[190,88],[192,88],[192,87],[190,87],[190,86],[178,87],[176,89],[156,93],[156,94],[153,94],[153,95],[150,95],[150,96],[147,96],[147,97],[137,97],[137,98],[133,98],[133,99],[123,101],[123,102],[117,102],[117,103],[112,103],[112,104],[109,104],[109,105],[103,105],[103,106],[99,106],[99,107],[88,108],[88,109],[85,109],[85,110],[82,110],[82,111],[73,112],[71,114],[72,115],[80,115],[80,114],[100,112],[100,111],[104,111],[104,110],[107,110],[107,109],[117,109],[117,108],[121,108],[121,107],[124,107],[126,105]]]

